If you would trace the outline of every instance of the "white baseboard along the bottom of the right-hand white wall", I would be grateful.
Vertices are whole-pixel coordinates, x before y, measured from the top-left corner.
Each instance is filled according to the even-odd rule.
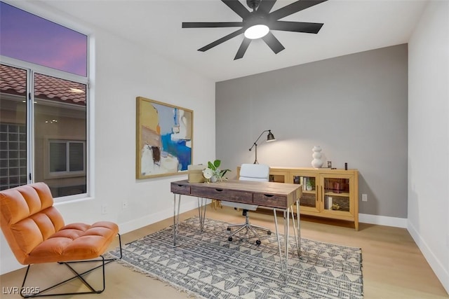
[[[434,254],[434,251],[432,251],[432,249],[427,245],[427,242],[424,241],[415,226],[413,226],[410,222],[408,223],[407,230],[410,232],[410,235],[413,237],[413,240],[422,252],[422,255],[427,260],[427,263],[429,263],[432,270],[434,270],[436,277],[440,280],[443,288],[445,288],[446,292],[449,294],[449,272],[447,268],[441,263],[441,260],[438,260]]]

